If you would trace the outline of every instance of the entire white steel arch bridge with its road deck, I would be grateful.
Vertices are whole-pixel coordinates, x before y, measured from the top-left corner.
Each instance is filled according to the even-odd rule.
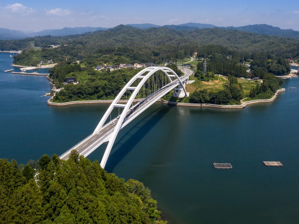
[[[189,76],[192,75],[192,71],[183,68],[183,72],[184,75],[181,77],[178,77],[172,69],[167,67],[148,67],[138,72],[113,100],[93,133],[59,156],[59,158],[67,160],[73,149],[86,157],[97,149],[97,147],[108,142],[101,161],[101,166],[104,168],[113,143],[121,128],[125,127],[140,113],[171,90],[174,90],[174,95],[177,97],[187,96],[185,83]],[[126,99],[128,94],[129,98]],[[115,108],[118,110],[119,115],[111,120],[111,113]],[[120,110],[122,110],[121,113]]]

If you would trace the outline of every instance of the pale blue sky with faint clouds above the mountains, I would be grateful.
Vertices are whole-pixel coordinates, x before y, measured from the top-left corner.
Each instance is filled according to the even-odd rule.
[[[0,2],[0,28],[22,31],[65,26],[114,27],[128,23],[156,25],[187,22],[216,26],[268,24],[299,30],[299,1],[6,1]]]

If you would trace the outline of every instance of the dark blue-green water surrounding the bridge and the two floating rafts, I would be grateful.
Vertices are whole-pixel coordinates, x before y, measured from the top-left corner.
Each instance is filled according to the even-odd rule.
[[[48,106],[46,78],[2,72],[11,63],[0,54],[1,158],[60,155],[94,130],[108,105]],[[142,181],[171,224],[298,223],[298,79],[284,82],[273,103],[240,110],[156,103],[118,134],[106,170]]]

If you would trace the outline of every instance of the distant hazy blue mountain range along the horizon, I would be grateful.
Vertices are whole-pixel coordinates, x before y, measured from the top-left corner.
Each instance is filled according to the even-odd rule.
[[[140,29],[150,29],[150,28],[159,28],[159,27],[167,27],[172,30],[187,30],[187,31],[194,31],[199,29],[206,29],[206,28],[220,28],[220,29],[227,29],[227,30],[241,30],[246,32],[258,33],[258,34],[267,34],[267,35],[275,35],[275,36],[282,36],[282,37],[292,37],[299,39],[299,31],[295,31],[292,29],[282,30],[279,27],[270,26],[267,24],[255,24],[255,25],[248,25],[248,26],[227,26],[227,27],[219,27],[214,26],[212,24],[202,24],[202,23],[184,23],[179,25],[165,25],[165,26],[158,26],[150,23],[143,23],[143,24],[126,24],[127,26],[133,26]],[[0,40],[12,40],[12,39],[24,39],[26,37],[34,37],[34,36],[67,36],[67,35],[75,35],[75,34],[83,34],[88,32],[94,32],[97,30],[108,30],[110,28],[103,28],[103,27],[64,27],[63,29],[52,29],[52,30],[42,30],[39,32],[33,33],[24,33],[18,30],[9,30],[0,28]]]

